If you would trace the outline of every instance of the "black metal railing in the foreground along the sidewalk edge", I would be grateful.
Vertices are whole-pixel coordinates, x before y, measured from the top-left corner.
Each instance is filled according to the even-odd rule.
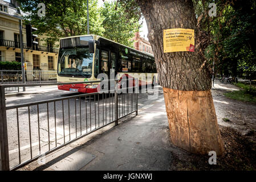
[[[0,85],[0,170],[14,170],[125,116],[138,114],[139,81],[119,80]],[[5,88],[112,82],[110,90],[6,106]],[[134,91],[133,91],[134,90]]]

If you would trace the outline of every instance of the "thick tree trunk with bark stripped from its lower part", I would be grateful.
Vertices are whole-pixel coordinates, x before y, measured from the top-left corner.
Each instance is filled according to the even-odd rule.
[[[208,154],[224,151],[217,124],[212,81],[206,59],[200,53],[200,35],[191,0],[137,0],[147,21],[173,144],[187,151]],[[190,28],[195,32],[194,52],[164,53],[163,31]]]

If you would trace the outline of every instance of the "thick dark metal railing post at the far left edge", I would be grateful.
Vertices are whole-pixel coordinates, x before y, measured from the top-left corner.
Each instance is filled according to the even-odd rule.
[[[9,171],[9,148],[5,106],[5,88],[0,85],[0,171]]]

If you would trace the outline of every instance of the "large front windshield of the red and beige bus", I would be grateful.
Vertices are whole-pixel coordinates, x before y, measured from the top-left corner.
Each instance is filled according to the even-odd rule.
[[[93,53],[88,47],[60,49],[58,74],[89,78],[92,76],[92,59]]]

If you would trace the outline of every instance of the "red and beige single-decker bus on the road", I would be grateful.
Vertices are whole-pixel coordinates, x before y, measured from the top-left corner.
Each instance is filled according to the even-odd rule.
[[[58,82],[96,81],[100,80],[97,78],[100,73],[105,73],[108,78],[111,74],[114,74],[116,79],[139,78],[140,86],[158,81],[155,59],[149,53],[137,51],[97,35],[60,39]],[[98,86],[99,82],[59,85],[58,88],[92,93],[97,92]]]

